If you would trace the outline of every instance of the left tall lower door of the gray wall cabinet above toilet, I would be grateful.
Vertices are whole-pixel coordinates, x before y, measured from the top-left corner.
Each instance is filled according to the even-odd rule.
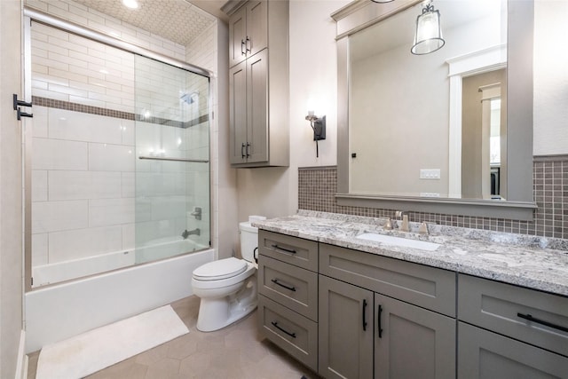
[[[247,162],[247,66],[242,61],[229,70],[229,160]]]

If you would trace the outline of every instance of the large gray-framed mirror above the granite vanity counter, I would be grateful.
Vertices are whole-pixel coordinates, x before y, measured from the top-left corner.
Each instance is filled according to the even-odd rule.
[[[532,219],[533,2],[432,4],[446,44],[421,56],[410,52],[419,1],[359,0],[332,15],[337,201]]]

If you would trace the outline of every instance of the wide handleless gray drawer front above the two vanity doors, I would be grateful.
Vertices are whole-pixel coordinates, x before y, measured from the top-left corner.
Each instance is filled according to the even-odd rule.
[[[455,272],[320,244],[319,272],[455,317]]]

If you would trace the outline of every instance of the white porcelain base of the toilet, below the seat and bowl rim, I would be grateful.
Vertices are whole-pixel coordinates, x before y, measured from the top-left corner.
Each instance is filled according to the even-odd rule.
[[[217,298],[203,298],[197,317],[197,329],[201,332],[212,332],[225,328],[256,309],[256,276],[236,294]]]

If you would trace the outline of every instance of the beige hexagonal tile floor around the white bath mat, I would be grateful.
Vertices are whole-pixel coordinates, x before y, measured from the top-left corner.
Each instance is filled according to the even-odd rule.
[[[173,304],[189,333],[107,367],[89,379],[308,379],[318,378],[257,333],[256,311],[215,332],[195,328],[199,298]],[[39,352],[29,355],[28,379],[36,377]],[[55,379],[55,378],[54,378]]]

